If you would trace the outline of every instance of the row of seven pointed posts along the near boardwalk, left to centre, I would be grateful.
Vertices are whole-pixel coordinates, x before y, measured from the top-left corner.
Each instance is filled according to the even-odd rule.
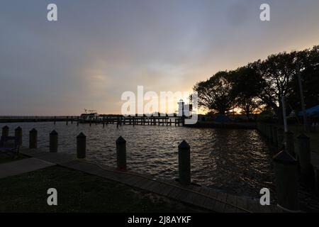
[[[9,136],[9,127],[2,128],[2,136]],[[14,131],[14,136],[19,138],[20,145],[22,145],[22,128],[18,127]],[[58,152],[58,138],[57,131],[53,130],[49,135],[49,151],[50,153]],[[117,170],[126,171],[126,140],[120,136],[116,141],[116,163]],[[38,131],[33,128],[29,131],[29,146],[30,149],[38,148]],[[79,133],[77,135],[77,158],[86,158],[86,135]],[[179,162],[179,183],[183,185],[191,184],[191,148],[189,144],[183,140],[178,146],[178,162]]]

